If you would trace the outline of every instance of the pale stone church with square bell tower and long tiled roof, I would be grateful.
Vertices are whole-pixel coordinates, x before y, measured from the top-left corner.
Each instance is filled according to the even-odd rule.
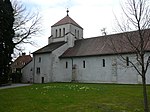
[[[123,34],[84,39],[83,28],[67,13],[51,27],[48,45],[33,53],[33,82],[141,83],[141,77],[129,64],[129,60],[135,60],[135,54],[129,45],[119,41]],[[119,52],[112,49],[112,41]],[[148,46],[147,57],[150,56]],[[119,59],[117,53],[123,54],[126,60]],[[25,71],[31,69],[29,64],[25,68]],[[147,72],[150,84],[150,68]],[[24,73],[28,76],[28,72]]]

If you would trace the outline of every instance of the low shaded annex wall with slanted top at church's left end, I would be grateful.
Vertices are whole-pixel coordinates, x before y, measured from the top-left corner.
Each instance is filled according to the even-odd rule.
[[[33,60],[22,69],[22,82],[33,82]]]

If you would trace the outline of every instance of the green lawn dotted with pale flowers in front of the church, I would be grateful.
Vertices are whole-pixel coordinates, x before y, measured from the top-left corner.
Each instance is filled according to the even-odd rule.
[[[3,89],[0,112],[143,112],[142,86],[49,83]]]

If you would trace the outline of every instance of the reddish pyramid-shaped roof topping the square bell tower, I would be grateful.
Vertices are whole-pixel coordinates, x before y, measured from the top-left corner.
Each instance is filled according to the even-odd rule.
[[[77,27],[82,28],[80,25],[78,25],[71,17],[69,17],[68,15],[65,16],[63,19],[61,19],[60,21],[58,21],[57,23],[55,23],[52,27],[54,26],[59,26],[59,25],[64,25],[64,24],[73,24]],[[83,28],[82,28],[83,29]]]

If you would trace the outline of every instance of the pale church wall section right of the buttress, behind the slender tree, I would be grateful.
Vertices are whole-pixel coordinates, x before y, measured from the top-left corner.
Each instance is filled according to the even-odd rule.
[[[136,55],[135,54],[128,54],[124,55],[124,57],[128,56],[129,60],[132,60],[134,65],[140,70],[140,66],[137,63]],[[145,63],[147,61],[147,58],[150,56],[150,53],[147,53],[145,55]],[[132,64],[129,64],[129,66],[126,66],[126,63],[122,60],[120,60],[120,57],[117,57],[117,71],[118,71],[118,83],[125,83],[125,84],[141,84],[142,83],[142,77],[138,74],[138,72],[135,70],[135,68],[132,66]],[[122,64],[121,64],[122,63]],[[146,82],[150,84],[150,66],[148,67],[147,73],[146,73]]]

